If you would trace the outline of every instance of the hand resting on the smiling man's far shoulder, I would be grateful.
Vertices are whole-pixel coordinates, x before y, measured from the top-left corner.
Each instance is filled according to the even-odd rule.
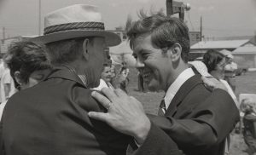
[[[202,76],[201,79],[210,89],[224,89],[225,91],[228,91],[224,84],[218,81],[216,78],[206,78]]]

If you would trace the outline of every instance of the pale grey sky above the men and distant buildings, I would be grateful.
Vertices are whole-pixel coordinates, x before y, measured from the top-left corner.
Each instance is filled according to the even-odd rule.
[[[200,30],[203,19],[205,37],[253,36],[256,34],[256,0],[177,0],[189,3],[185,13],[190,31]],[[19,35],[38,35],[39,0],[0,0],[0,38]],[[125,26],[130,14],[137,19],[137,12],[166,10],[166,0],[41,0],[41,30],[44,32],[44,14],[76,3],[96,5],[102,12],[105,27],[113,30]]]

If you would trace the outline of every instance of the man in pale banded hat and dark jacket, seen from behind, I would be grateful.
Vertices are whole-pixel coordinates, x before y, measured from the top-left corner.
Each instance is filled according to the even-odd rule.
[[[1,155],[125,154],[129,136],[87,112],[106,109],[91,97],[99,85],[106,46],[120,38],[104,30],[90,5],[73,5],[45,17],[44,43],[55,66],[43,82],[15,94],[3,112]]]

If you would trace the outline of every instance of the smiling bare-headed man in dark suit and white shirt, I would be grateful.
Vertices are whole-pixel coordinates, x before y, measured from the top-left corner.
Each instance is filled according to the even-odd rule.
[[[159,116],[147,116],[138,100],[119,89],[102,89],[106,97],[93,92],[108,112],[89,116],[133,136],[139,154],[182,153],[166,152],[173,145],[168,141],[189,155],[224,154],[225,139],[239,120],[235,103],[224,90],[207,89],[189,68],[189,30],[183,21],[162,13],[140,17],[128,20],[126,30],[148,89],[166,92]]]

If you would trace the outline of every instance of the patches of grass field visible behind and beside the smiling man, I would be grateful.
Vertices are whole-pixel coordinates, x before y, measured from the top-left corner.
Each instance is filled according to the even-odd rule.
[[[145,112],[156,114],[163,92],[142,93],[137,91],[137,70],[130,69],[130,83],[128,85],[129,95],[132,95],[143,103]],[[247,72],[245,75],[236,77],[236,95],[241,93],[256,93],[256,72]],[[247,146],[244,144],[242,135],[231,135],[231,155],[247,155]]]

